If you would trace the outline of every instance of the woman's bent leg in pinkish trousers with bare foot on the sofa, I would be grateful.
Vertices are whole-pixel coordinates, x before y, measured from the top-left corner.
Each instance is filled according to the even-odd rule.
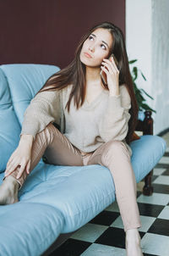
[[[50,164],[83,165],[79,149],[74,147],[52,123],[35,136],[31,151],[30,171],[39,163],[43,154],[46,155]],[[18,193],[16,193],[16,190],[18,192],[18,183],[20,189],[27,177],[27,173],[24,171],[23,175],[17,179],[18,172],[19,167],[7,178],[4,178],[3,185],[0,186],[0,204],[18,202]],[[14,194],[14,198],[11,196],[12,194]]]

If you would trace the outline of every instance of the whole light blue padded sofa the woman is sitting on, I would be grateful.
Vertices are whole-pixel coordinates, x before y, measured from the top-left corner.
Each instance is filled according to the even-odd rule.
[[[0,184],[8,158],[19,143],[25,109],[57,70],[45,64],[0,66]],[[146,135],[131,142],[131,147],[139,182],[161,159],[166,142],[160,136]],[[19,203],[0,206],[0,255],[47,255],[114,201],[115,186],[106,167],[55,166],[41,159],[19,191]]]

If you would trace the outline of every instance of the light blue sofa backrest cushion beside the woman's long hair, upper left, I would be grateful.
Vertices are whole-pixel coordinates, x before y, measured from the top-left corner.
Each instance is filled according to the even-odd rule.
[[[22,124],[30,100],[45,84],[47,78],[60,69],[47,64],[3,64],[0,68],[7,76],[14,110],[19,123]]]

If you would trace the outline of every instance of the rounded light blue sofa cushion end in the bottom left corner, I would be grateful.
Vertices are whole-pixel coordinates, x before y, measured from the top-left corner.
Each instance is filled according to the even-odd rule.
[[[63,215],[50,205],[22,201],[0,209],[2,256],[41,255],[63,230]]]

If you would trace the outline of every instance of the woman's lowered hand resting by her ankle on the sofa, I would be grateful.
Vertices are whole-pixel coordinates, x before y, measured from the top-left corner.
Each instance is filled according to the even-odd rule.
[[[20,167],[17,179],[26,170],[27,174],[30,174],[30,158],[31,147],[33,144],[33,136],[22,135],[20,138],[19,146],[14,150],[11,157],[8,159],[7,167],[5,170],[5,177],[14,172],[17,167]]]

